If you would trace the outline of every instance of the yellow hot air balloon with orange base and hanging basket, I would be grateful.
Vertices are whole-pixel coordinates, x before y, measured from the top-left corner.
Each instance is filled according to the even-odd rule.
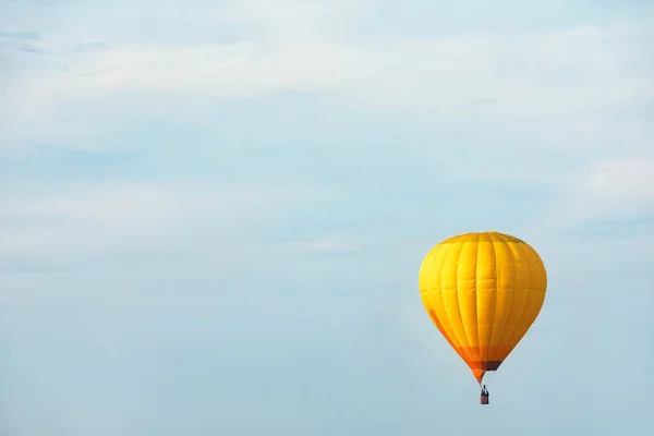
[[[524,241],[499,232],[449,238],[423,259],[419,289],[427,314],[480,386],[541,312],[547,272]],[[488,403],[482,387],[481,403]]]

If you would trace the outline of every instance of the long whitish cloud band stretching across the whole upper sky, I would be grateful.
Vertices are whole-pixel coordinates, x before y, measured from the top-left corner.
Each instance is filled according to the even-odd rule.
[[[342,44],[263,35],[232,44],[122,46],[70,56],[70,71],[97,74],[52,72],[53,82],[38,90],[69,98],[116,90],[233,98],[331,89],[370,105],[441,113],[564,117],[654,96],[653,80],[625,65],[630,43],[611,28],[582,26],[522,40],[477,35]]]

